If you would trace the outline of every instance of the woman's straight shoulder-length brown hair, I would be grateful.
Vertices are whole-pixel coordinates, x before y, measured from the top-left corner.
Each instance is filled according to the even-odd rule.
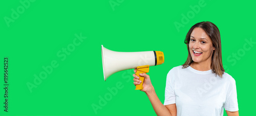
[[[215,50],[211,56],[212,62],[210,67],[211,67],[212,73],[216,73],[216,75],[218,74],[220,77],[222,77],[225,70],[222,65],[220,31],[219,31],[219,28],[214,23],[209,21],[196,23],[189,29],[184,41],[184,43],[187,45],[188,56],[187,56],[186,62],[182,65],[183,66],[182,68],[183,69],[187,68],[189,65],[191,65],[194,62],[189,52],[189,41],[190,41],[190,34],[192,33],[195,27],[202,28],[204,32],[210,37],[212,41],[212,45],[215,47]]]

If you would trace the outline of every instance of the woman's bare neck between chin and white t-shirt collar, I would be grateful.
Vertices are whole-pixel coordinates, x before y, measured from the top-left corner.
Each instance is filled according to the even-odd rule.
[[[199,71],[208,71],[211,69],[210,65],[211,65],[211,62],[204,62],[204,63],[193,62],[190,65],[190,67],[192,67],[193,69],[199,70]]]

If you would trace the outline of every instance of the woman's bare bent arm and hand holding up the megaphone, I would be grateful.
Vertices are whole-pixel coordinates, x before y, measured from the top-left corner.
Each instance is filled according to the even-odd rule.
[[[137,70],[135,69],[134,72],[136,73]],[[133,74],[134,76],[134,84],[140,84],[139,77]],[[143,83],[143,90],[142,92],[145,92],[148,99],[150,100],[155,112],[157,115],[170,115],[170,116],[176,116],[176,105],[175,104],[170,104],[164,106],[159,98],[157,97],[157,94],[155,92],[155,89],[151,83],[150,76],[142,73],[140,76],[144,77],[144,83]]]

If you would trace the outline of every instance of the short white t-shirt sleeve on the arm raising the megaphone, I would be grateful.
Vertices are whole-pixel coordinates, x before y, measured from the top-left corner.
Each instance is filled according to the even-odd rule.
[[[169,105],[175,103],[175,91],[174,91],[174,73],[175,71],[172,69],[168,72],[166,77],[166,86],[165,86],[165,99],[163,105]]]

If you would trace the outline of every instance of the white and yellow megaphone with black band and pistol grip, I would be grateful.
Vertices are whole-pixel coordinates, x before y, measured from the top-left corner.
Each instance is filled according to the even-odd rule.
[[[135,73],[140,77],[141,83],[136,85],[135,90],[143,89],[144,77],[139,73],[147,73],[150,66],[164,63],[162,51],[140,51],[140,52],[117,52],[106,49],[101,45],[101,56],[104,80],[110,75],[127,69],[137,69]]]

